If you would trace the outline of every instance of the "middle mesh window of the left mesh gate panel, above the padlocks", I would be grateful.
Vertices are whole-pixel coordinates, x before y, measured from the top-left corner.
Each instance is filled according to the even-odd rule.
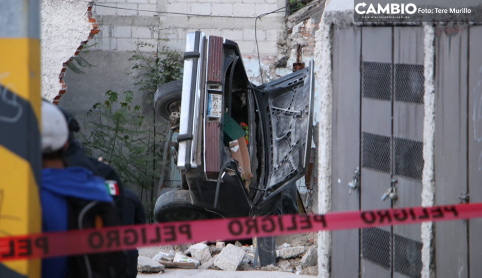
[[[362,132],[362,167],[390,173],[391,138]]]

